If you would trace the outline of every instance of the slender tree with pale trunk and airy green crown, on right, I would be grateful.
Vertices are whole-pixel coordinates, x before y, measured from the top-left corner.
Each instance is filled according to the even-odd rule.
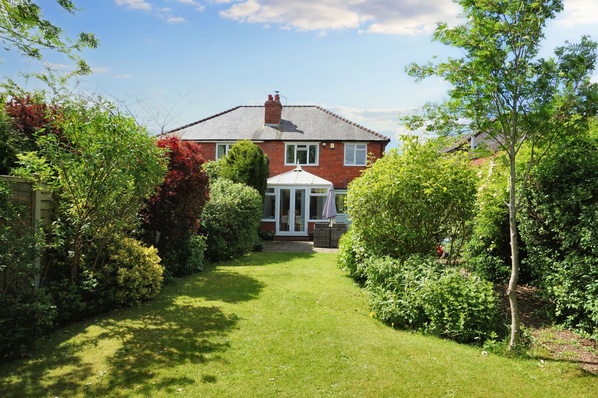
[[[563,135],[587,128],[596,115],[598,85],[590,82],[596,62],[596,43],[583,36],[579,44],[556,48],[555,57],[538,57],[548,19],[563,10],[562,0],[460,0],[465,23],[449,27],[439,23],[434,41],[459,48],[462,57],[446,62],[405,68],[420,81],[441,76],[453,87],[441,104],[427,103],[420,112],[404,117],[410,129],[425,128],[440,135],[487,131],[504,151],[509,169],[509,235],[511,277],[511,341],[519,341],[517,305],[519,272],[517,210],[530,169]],[[515,161],[523,143],[530,157],[523,175]],[[521,188],[517,190],[517,181]]]

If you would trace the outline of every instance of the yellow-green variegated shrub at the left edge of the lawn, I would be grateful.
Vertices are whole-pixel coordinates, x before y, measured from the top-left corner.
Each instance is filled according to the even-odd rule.
[[[158,295],[164,268],[157,249],[123,238],[109,244],[107,250],[110,258],[97,273],[97,280],[113,289],[118,304],[139,304]]]

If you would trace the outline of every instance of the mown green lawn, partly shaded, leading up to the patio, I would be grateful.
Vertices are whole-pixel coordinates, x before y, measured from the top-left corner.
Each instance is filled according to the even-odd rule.
[[[254,253],[0,365],[0,397],[596,397],[569,362],[510,359],[369,316],[327,253]]]

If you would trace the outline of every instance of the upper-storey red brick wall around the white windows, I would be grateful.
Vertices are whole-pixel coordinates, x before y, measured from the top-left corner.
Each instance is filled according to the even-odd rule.
[[[330,144],[334,143],[334,149]],[[203,149],[203,157],[208,160],[216,158],[216,143],[199,142]],[[257,142],[264,152],[270,157],[270,177],[288,172],[295,166],[285,166],[285,143],[282,141],[264,141]],[[374,158],[380,158],[386,147],[386,142],[372,141],[368,142],[368,153],[372,153]],[[342,141],[326,141],[326,146],[320,143],[318,166],[301,166],[306,172],[322,177],[334,184],[335,189],[346,188],[347,184],[355,177],[359,177],[361,170],[365,166],[343,166],[344,163],[344,145]]]

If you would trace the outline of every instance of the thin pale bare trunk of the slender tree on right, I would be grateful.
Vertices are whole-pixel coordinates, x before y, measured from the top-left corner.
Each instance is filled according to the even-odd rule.
[[[513,153],[513,152],[511,152]],[[511,278],[507,295],[511,304],[511,342],[509,351],[519,342],[519,306],[517,304],[517,278],[519,277],[519,249],[517,246],[517,203],[515,202],[515,157],[509,158],[509,232],[511,233]]]

